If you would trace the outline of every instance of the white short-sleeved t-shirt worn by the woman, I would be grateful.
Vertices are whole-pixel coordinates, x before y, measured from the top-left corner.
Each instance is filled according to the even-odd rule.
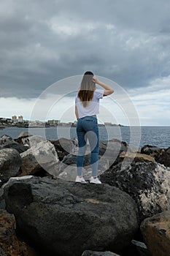
[[[104,97],[104,90],[96,89],[93,94],[93,99],[84,108],[80,98],[76,97],[75,105],[77,106],[77,111],[79,118],[84,116],[93,116],[99,113],[99,99]]]

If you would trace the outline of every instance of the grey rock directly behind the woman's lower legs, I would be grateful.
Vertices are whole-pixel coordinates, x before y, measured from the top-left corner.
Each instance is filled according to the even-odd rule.
[[[109,168],[109,162],[107,159],[98,157],[98,175],[104,173]],[[77,155],[68,154],[63,158],[63,161],[59,165],[60,174],[58,178],[62,178],[66,181],[75,181],[77,176]],[[85,155],[84,167],[82,168],[82,176],[85,180],[90,180],[92,168],[90,167],[90,154]]]

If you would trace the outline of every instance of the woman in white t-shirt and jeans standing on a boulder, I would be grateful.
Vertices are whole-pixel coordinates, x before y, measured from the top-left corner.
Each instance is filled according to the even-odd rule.
[[[96,89],[96,83],[103,89]],[[90,165],[92,166],[92,176],[90,183],[101,184],[98,180],[98,114],[99,99],[112,94],[114,90],[96,78],[93,72],[87,71],[83,75],[80,90],[75,99],[75,114],[77,117],[77,138],[79,151],[77,155],[77,177],[76,182],[87,183],[82,177],[82,166],[86,151],[86,140],[90,144]]]

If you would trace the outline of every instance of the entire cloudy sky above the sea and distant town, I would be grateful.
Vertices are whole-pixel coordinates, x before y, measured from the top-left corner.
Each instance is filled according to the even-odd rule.
[[[92,70],[119,86],[101,103],[101,121],[111,113],[128,124],[132,104],[141,125],[170,125],[169,11],[169,0],[1,0],[0,117],[29,119],[37,99],[47,118],[71,113],[78,85],[57,83],[50,94],[49,86]],[[127,105],[117,102],[121,91]]]

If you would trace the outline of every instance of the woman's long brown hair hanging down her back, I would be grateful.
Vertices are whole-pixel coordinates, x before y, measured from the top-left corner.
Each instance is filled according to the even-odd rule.
[[[82,78],[78,97],[82,102],[83,107],[87,107],[88,103],[93,99],[94,91],[96,90],[96,83],[93,82],[93,72],[86,71]]]

